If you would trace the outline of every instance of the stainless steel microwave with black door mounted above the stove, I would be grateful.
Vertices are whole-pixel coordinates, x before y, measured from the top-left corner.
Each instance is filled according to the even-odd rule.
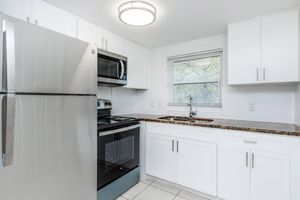
[[[98,85],[127,84],[127,57],[98,49]]]

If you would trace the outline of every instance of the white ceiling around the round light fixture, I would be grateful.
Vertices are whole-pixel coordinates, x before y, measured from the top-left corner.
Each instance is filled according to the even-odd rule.
[[[300,0],[146,0],[156,6],[157,21],[130,27],[117,13],[126,0],[45,1],[148,48],[225,33],[229,22],[300,6]]]

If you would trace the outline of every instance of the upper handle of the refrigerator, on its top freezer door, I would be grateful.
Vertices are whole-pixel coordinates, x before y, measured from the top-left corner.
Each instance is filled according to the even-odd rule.
[[[2,91],[15,91],[15,30],[14,24],[2,20]]]

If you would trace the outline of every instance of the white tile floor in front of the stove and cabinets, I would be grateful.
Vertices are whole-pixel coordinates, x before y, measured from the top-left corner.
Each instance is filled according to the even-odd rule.
[[[145,179],[117,200],[209,200],[166,183]]]

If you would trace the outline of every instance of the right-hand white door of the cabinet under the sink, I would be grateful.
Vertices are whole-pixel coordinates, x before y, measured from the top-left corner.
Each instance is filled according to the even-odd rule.
[[[178,139],[176,151],[177,183],[216,196],[216,144]]]

